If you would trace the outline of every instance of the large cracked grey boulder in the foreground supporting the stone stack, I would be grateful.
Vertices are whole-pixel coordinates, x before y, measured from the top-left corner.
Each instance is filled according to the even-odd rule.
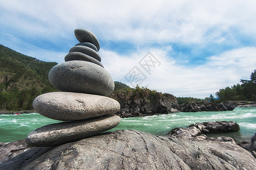
[[[117,130],[57,147],[34,147],[0,169],[254,169],[232,143]]]

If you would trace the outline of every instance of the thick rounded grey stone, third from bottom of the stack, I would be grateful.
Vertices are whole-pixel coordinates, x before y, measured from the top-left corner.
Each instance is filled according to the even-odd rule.
[[[114,81],[108,71],[87,61],[59,63],[49,71],[48,78],[60,91],[108,96],[114,90]]]

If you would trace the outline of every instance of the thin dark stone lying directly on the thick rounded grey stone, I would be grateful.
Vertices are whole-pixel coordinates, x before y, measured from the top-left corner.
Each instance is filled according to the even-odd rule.
[[[100,61],[98,61],[97,59],[95,59],[87,54],[80,53],[80,52],[68,53],[67,56],[64,57],[64,60],[65,61],[72,61],[72,60],[88,61],[88,62],[95,63],[96,65],[99,65],[104,68],[104,66],[102,65],[102,63]]]

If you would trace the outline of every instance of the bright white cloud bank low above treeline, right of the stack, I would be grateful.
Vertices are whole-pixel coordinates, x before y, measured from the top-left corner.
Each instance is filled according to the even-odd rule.
[[[204,98],[215,94],[220,88],[240,83],[240,79],[249,79],[256,66],[256,47],[234,49],[212,56],[204,65],[185,67],[178,65],[174,58],[167,56],[168,51],[151,49],[161,65],[152,67],[151,74],[139,65],[147,54],[146,50],[131,56],[120,56],[114,52],[102,50],[102,63],[114,80],[132,85],[125,79],[134,66],[137,66],[147,78],[139,86],[147,86],[175,96]]]

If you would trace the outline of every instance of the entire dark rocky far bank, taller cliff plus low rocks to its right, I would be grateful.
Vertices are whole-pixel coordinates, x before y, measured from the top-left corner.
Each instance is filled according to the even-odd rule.
[[[174,112],[232,111],[237,106],[234,101],[224,101],[219,104],[197,101],[179,105],[174,95],[162,94],[148,89],[118,90],[109,97],[120,103],[121,108],[116,114],[122,118]]]

